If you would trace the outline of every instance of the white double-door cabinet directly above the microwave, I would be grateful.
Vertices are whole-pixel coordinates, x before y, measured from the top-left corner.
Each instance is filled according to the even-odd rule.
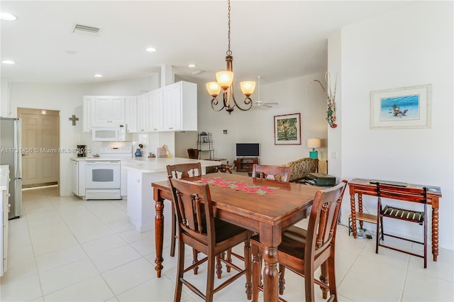
[[[96,96],[94,99],[94,121],[96,127],[125,123],[124,96]]]

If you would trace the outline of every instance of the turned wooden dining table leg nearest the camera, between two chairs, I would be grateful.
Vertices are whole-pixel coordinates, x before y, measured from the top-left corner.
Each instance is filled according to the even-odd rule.
[[[277,271],[277,247],[265,247],[263,268],[263,301],[275,302],[279,298]]]

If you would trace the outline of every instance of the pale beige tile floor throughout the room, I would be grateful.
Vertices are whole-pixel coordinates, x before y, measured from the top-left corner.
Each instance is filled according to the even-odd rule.
[[[134,230],[126,202],[59,197],[57,187],[23,191],[24,215],[9,221],[9,269],[0,279],[0,300],[173,301],[176,257],[169,256],[170,219],[165,225],[164,270],[157,279],[153,230]],[[169,206],[167,217],[168,211]],[[453,251],[441,249],[438,262],[430,260],[423,269],[420,258],[386,249],[376,255],[372,240],[355,240],[340,225],[339,301],[454,301],[453,258]],[[191,276],[201,289],[204,269]],[[284,298],[303,301],[302,279],[289,272],[286,281]],[[247,301],[244,279],[214,299]],[[185,288],[182,300],[201,301]],[[316,301],[323,301],[319,289]]]

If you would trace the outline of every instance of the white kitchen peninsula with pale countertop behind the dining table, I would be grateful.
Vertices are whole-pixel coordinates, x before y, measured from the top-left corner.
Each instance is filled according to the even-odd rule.
[[[221,162],[212,160],[191,160],[179,157],[141,158],[122,160],[122,173],[127,173],[127,213],[135,230],[145,232],[155,224],[155,201],[151,183],[167,179],[167,164],[189,164],[200,162],[201,173],[205,174],[206,167],[218,166]]]

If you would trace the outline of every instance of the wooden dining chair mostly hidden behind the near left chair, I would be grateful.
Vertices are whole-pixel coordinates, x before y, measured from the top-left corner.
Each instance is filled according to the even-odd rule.
[[[201,164],[200,162],[192,164],[173,164],[167,165],[167,177],[173,178],[184,178],[184,177],[196,177],[201,175]],[[177,235],[177,220],[175,219],[175,208],[172,206],[172,239],[170,242],[170,256],[175,256],[175,244]],[[197,251],[194,251],[194,262],[197,260]],[[194,274],[197,274],[197,268],[194,269]]]

